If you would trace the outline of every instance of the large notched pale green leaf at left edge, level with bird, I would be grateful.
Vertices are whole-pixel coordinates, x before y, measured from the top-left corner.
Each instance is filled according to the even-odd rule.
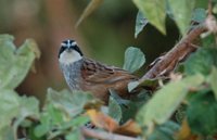
[[[36,50],[33,40],[16,49],[12,36],[0,36],[0,88],[14,89],[23,81],[37,56]]]

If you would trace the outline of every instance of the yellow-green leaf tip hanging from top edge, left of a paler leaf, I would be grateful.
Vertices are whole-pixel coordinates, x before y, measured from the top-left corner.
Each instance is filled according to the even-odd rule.
[[[148,21],[159,31],[166,34],[166,0],[132,0]],[[156,9],[157,8],[157,9]]]

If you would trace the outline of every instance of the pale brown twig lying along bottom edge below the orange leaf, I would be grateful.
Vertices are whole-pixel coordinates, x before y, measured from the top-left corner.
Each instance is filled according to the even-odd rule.
[[[86,137],[95,138],[95,139],[103,139],[103,140],[142,140],[139,138],[132,138],[100,130],[93,130],[86,127],[81,128],[81,133]],[[143,139],[144,140],[144,139]]]

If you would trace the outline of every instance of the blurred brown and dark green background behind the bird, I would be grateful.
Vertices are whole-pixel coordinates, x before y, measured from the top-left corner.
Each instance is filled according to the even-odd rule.
[[[73,38],[88,58],[123,66],[127,47],[140,48],[151,63],[179,39],[173,21],[166,20],[167,35],[146,25],[136,39],[138,9],[131,0],[104,0],[100,8],[77,28],[75,24],[90,0],[0,0],[0,34],[11,34],[15,44],[26,38],[36,40],[41,58],[37,73],[29,73],[17,88],[20,93],[43,100],[48,87],[67,88],[59,68],[58,53],[62,40]],[[145,66],[139,75],[144,74]]]

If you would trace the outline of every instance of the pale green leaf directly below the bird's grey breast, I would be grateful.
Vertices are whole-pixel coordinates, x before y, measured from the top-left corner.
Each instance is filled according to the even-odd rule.
[[[62,90],[60,92],[48,89],[48,102],[52,103],[55,107],[67,113],[69,116],[76,116],[84,111],[86,103],[93,99],[89,92],[76,91],[69,92]]]

